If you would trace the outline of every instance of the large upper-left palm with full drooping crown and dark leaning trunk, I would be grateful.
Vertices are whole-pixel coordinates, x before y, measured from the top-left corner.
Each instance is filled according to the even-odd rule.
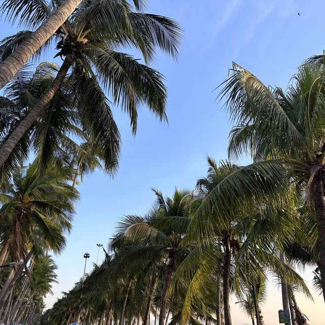
[[[5,39],[2,53],[8,55],[21,38],[18,33]],[[2,143],[0,166],[44,114],[70,68],[71,96],[77,103],[80,123],[101,149],[118,137],[118,131],[100,84],[114,103],[128,113],[134,133],[139,104],[148,106],[160,121],[167,120],[167,91],[163,76],[114,49],[133,46],[142,52],[145,62],[153,58],[156,47],[175,57],[180,41],[180,28],[175,21],[132,12],[127,2],[118,0],[83,1],[74,15],[57,30],[53,36],[55,40],[58,42],[57,55],[64,57],[62,66],[51,86]],[[110,155],[105,155],[104,162],[105,166],[111,163]]]

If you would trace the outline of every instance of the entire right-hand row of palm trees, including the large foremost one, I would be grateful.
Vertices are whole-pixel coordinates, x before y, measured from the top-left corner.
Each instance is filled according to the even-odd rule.
[[[311,58],[283,91],[234,64],[219,95],[235,122],[229,153],[253,162],[209,158],[194,191],[165,198],[154,190],[150,211],[118,224],[112,255],[42,321],[135,324],[154,315],[159,325],[230,325],[234,293],[252,323],[263,324],[265,281],[274,274],[291,323],[306,324],[295,293],[311,294],[295,270],[314,267],[314,285],[325,293],[323,67],[322,57]]]

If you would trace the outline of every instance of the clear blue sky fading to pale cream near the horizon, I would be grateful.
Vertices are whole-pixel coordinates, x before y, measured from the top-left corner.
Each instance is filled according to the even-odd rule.
[[[134,138],[129,121],[116,110],[123,139],[118,175],[112,180],[97,171],[78,187],[81,200],[67,249],[55,258],[59,284],[46,299],[48,307],[82,276],[85,252],[90,253],[91,270],[96,243],[107,245],[117,220],[148,210],[154,200],[150,188],[165,195],[175,187],[193,188],[206,173],[207,155],[226,158],[231,125],[213,90],[228,75],[232,61],[266,84],[285,88],[298,64],[324,49],[321,0],[151,0],[147,11],[176,19],[185,31],[178,62],[159,55],[152,65],[167,78],[169,125],[159,124],[143,109]],[[1,38],[15,30],[4,21],[1,27]],[[310,282],[311,270],[302,275]],[[270,281],[263,313],[266,325],[275,325],[282,303]],[[324,304],[318,294],[314,298],[316,304],[303,297],[298,303],[312,325],[324,325]],[[235,302],[233,298],[233,324],[249,324]]]

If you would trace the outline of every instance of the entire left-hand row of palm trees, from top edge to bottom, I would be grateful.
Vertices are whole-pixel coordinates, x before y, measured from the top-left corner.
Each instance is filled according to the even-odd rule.
[[[177,58],[182,31],[144,5],[2,2],[8,22],[24,29],[0,42],[1,323],[39,322],[55,282],[50,254],[66,245],[76,186],[95,168],[117,171],[121,140],[113,108],[129,116],[134,134],[139,107],[167,122],[165,78],[149,64],[157,50]],[[48,51],[61,65],[40,62]]]

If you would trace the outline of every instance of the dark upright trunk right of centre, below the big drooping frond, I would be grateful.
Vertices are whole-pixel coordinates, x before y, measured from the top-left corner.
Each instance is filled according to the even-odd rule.
[[[230,267],[231,251],[229,238],[226,239],[224,257],[223,257],[223,313],[224,325],[232,325],[232,316],[230,313]]]

